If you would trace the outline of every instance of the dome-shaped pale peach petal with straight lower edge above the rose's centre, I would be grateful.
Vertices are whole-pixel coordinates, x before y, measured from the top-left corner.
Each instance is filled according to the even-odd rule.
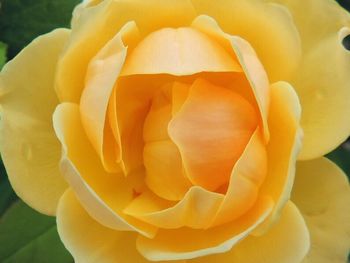
[[[164,28],[148,35],[126,60],[122,75],[240,71],[238,62],[217,42],[184,27]]]

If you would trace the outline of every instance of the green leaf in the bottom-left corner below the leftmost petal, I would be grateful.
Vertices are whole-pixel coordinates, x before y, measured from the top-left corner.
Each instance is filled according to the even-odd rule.
[[[74,262],[57,234],[53,217],[17,201],[0,219],[0,262]]]

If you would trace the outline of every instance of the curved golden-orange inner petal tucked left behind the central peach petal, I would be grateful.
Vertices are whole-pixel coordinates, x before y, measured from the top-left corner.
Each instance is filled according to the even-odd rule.
[[[143,127],[146,183],[154,193],[167,200],[180,200],[191,187],[184,175],[180,152],[168,135],[174,108],[170,96],[176,96],[175,89],[179,87],[187,89],[189,86],[170,83],[155,94]]]

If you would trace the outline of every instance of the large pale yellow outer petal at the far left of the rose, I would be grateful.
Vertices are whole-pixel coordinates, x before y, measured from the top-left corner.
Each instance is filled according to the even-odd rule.
[[[0,147],[9,179],[19,197],[49,215],[67,188],[51,116],[57,59],[69,33],[58,29],[37,38],[0,74]]]

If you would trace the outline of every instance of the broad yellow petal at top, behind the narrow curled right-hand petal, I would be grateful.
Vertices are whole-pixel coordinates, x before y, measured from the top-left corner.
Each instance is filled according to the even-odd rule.
[[[288,80],[301,57],[300,39],[287,9],[259,0],[191,0],[198,14],[213,17],[230,35],[247,40],[272,82]]]

